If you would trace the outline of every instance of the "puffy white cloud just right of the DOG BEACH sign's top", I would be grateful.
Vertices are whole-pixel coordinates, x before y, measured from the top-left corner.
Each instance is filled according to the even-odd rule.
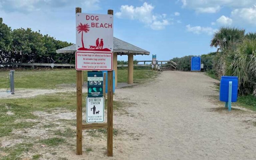
[[[170,22],[166,19],[166,14],[153,14],[154,6],[144,2],[140,7],[122,5],[120,11],[115,14],[117,18],[127,18],[139,20],[154,30],[164,29]]]

